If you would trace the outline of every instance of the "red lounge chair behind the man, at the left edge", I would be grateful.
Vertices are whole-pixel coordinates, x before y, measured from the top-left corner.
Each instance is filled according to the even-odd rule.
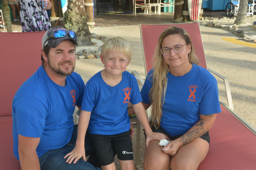
[[[18,88],[41,65],[45,31],[0,33],[0,169],[18,170],[13,154],[12,99]],[[26,107],[26,106],[24,106]]]

